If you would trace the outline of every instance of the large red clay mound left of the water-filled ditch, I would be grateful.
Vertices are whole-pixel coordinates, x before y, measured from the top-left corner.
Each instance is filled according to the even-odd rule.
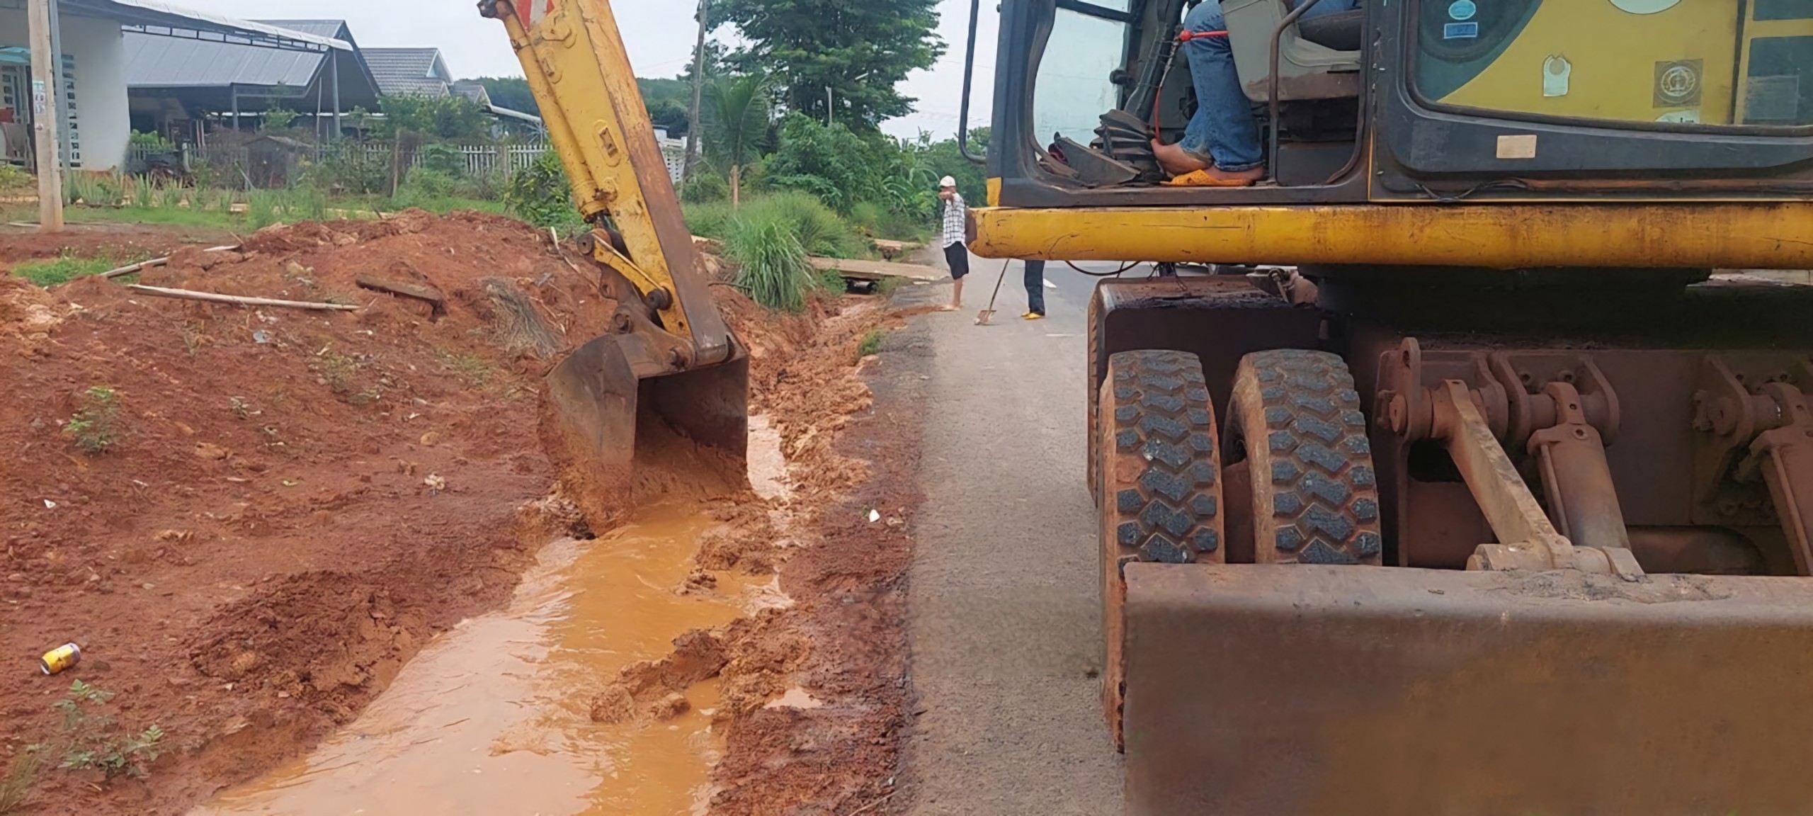
[[[446,314],[361,290],[361,272],[439,287]],[[361,308],[0,276],[0,767],[47,745],[20,812],[179,814],[500,606],[562,526],[519,513],[551,491],[535,435],[551,355],[500,303],[533,303],[555,354],[615,308],[546,236],[477,214],[265,230],[143,283]],[[40,675],[63,642],[82,664]],[[56,769],[73,680],[114,693],[109,734],[163,729],[145,780]]]

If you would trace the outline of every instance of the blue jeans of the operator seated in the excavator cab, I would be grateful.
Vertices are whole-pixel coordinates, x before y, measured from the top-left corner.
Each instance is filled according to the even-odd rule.
[[[1358,0],[1322,0],[1304,16],[1352,11],[1358,5]],[[1220,0],[1204,0],[1191,9],[1184,16],[1184,27],[1193,33],[1227,31]],[[1226,36],[1198,36],[1184,44],[1184,54],[1189,56],[1189,78],[1197,83],[1197,114],[1184,131],[1184,151],[1204,161],[1213,160],[1215,167],[1227,172],[1264,167],[1265,147],[1258,140],[1253,102],[1240,91],[1233,45]]]

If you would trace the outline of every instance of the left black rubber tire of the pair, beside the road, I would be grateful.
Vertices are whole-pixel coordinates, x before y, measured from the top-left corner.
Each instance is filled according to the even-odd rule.
[[[1102,711],[1122,749],[1122,564],[1226,560],[1220,446],[1202,363],[1188,352],[1122,352],[1099,393]]]

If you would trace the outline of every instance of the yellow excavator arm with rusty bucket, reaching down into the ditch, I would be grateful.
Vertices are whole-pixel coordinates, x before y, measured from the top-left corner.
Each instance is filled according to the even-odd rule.
[[[567,490],[595,529],[622,517],[633,502],[638,430],[716,448],[740,475],[747,355],[713,305],[611,4],[480,0],[479,13],[509,33],[573,199],[593,225],[580,248],[620,305],[615,334],[548,375],[542,437]]]

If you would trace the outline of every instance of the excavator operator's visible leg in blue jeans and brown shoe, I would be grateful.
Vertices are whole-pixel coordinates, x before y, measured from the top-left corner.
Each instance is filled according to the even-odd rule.
[[[1304,18],[1352,11],[1360,0],[1322,0]],[[1206,0],[1184,16],[1184,53],[1197,85],[1197,114],[1184,140],[1166,145],[1151,140],[1159,167],[1173,187],[1251,187],[1265,178],[1265,147],[1260,143],[1253,103],[1240,91],[1235,53],[1220,0]]]

